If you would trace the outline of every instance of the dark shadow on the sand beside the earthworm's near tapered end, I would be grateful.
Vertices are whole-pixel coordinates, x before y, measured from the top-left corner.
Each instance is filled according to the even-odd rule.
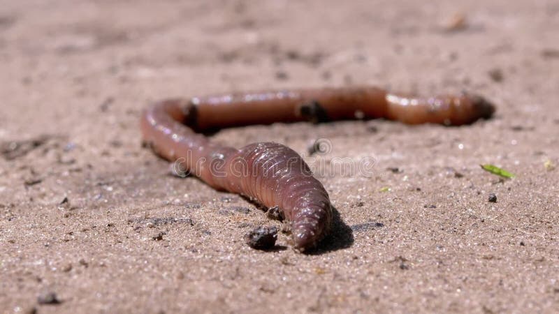
[[[344,223],[340,211],[332,207],[332,229],[314,250],[305,252],[307,255],[321,255],[344,248],[349,248],[354,244],[354,232],[351,227]]]

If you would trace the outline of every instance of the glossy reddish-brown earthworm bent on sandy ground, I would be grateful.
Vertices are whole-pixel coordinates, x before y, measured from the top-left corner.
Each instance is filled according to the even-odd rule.
[[[275,142],[241,149],[211,142],[204,130],[293,121],[386,118],[406,124],[459,126],[494,112],[479,96],[410,98],[376,87],[263,91],[161,100],[141,119],[144,142],[217,190],[279,207],[293,247],[305,251],[331,229],[333,209],[324,186],[296,151]]]

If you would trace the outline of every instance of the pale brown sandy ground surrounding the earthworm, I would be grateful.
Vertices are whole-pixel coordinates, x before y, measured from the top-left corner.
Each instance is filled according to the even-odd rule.
[[[0,312],[553,313],[558,29],[551,0],[1,1]],[[324,138],[317,170],[375,158],[372,176],[317,174],[340,220],[312,255],[284,234],[249,248],[275,222],[140,146],[152,100],[347,84],[465,89],[498,112],[217,133],[301,154]]]

